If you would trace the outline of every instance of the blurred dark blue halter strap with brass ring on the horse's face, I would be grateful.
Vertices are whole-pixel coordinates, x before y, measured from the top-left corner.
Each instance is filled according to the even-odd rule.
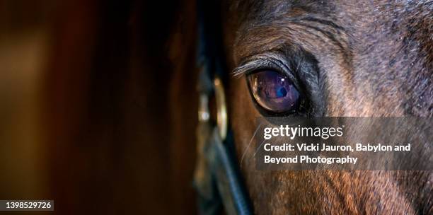
[[[199,123],[197,127],[197,163],[194,184],[200,214],[253,214],[236,162],[233,136],[229,129],[224,81],[224,56],[221,54],[219,11],[214,1],[197,0]],[[209,110],[215,98],[217,122]]]

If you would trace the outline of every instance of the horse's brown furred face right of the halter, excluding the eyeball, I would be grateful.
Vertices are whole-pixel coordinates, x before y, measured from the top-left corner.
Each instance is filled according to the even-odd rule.
[[[255,170],[247,145],[262,111],[245,80],[254,71],[290,74],[302,115],[432,117],[432,1],[236,1],[226,8],[227,61],[241,76],[230,83],[231,123],[256,212],[433,212],[429,172]]]

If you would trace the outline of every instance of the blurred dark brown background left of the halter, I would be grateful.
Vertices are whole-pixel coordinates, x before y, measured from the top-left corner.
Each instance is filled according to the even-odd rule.
[[[193,1],[0,0],[0,199],[194,213],[195,44]]]

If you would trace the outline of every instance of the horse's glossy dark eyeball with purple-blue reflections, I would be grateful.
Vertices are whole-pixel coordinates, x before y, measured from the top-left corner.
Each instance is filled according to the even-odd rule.
[[[258,105],[271,112],[296,112],[301,95],[287,76],[263,70],[248,75],[250,92]]]

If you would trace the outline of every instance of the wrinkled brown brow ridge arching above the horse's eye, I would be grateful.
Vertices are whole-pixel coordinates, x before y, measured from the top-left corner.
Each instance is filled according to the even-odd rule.
[[[304,38],[300,35],[309,36]],[[304,47],[302,40],[322,40],[319,43],[327,42],[340,52],[350,54],[349,38],[345,28],[328,18],[312,14],[287,15],[265,23],[246,25],[239,30],[233,47],[238,50],[238,57],[243,59],[250,54],[248,52],[260,53],[267,51],[267,48],[276,50],[287,42]]]

